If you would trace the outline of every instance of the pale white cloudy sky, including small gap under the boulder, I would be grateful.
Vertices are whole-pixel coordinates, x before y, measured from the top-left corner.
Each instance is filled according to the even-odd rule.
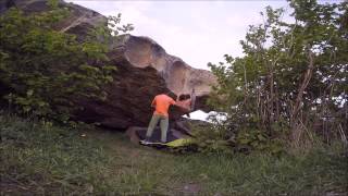
[[[105,16],[122,13],[122,23],[135,26],[130,34],[150,37],[169,54],[204,70],[209,70],[208,62],[223,61],[225,53],[233,57],[243,54],[239,40],[245,39],[248,25],[262,23],[260,12],[266,5],[289,10],[285,0],[65,1]],[[191,114],[191,119],[203,120],[206,117],[201,111]]]

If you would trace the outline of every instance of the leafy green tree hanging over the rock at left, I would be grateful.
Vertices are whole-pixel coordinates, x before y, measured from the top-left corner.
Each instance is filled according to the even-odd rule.
[[[10,9],[0,17],[0,85],[2,97],[16,111],[66,122],[78,109],[75,100],[107,98],[104,86],[113,81],[115,65],[107,53],[107,42],[119,29],[105,24],[90,32],[86,40],[59,32],[57,24],[69,16],[58,1],[48,1],[45,12],[23,13]],[[121,15],[109,17],[117,25]]]

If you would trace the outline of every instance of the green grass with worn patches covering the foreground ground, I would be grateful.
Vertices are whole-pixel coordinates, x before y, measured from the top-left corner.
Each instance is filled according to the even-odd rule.
[[[173,155],[122,133],[0,115],[0,195],[347,195],[347,149]]]

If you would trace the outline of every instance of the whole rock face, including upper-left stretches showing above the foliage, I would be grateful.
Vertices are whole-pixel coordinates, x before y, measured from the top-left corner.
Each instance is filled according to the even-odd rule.
[[[11,0],[0,3],[0,13],[16,5],[26,12],[39,12],[47,9],[45,0]],[[71,11],[71,16],[58,25],[58,29],[76,34],[83,39],[88,30],[107,19],[89,9],[60,1],[61,7]],[[152,109],[150,103],[158,94],[172,91],[176,95],[196,90],[195,110],[208,111],[204,100],[215,83],[215,77],[206,70],[186,64],[182,59],[170,56],[156,41],[148,37],[123,35],[117,44],[110,44],[109,53],[116,65],[115,81],[105,86],[107,101],[84,100],[84,111],[77,118],[86,122],[97,122],[111,128],[147,126]],[[172,122],[181,119],[182,113],[171,109]]]

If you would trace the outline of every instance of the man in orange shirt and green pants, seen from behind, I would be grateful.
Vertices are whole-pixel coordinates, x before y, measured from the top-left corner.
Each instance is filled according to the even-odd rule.
[[[169,126],[167,110],[171,105],[175,105],[181,108],[184,108],[178,102],[176,102],[173,98],[171,98],[170,96],[167,96],[165,94],[161,94],[161,95],[158,95],[154,97],[154,99],[152,100],[151,107],[154,107],[156,110],[152,114],[151,121],[149,123],[149,127],[146,132],[146,139],[142,142],[142,144],[149,144],[150,137],[151,137],[153,130],[159,121],[160,121],[160,127],[161,127],[161,142],[166,143],[166,132],[167,132],[167,126]]]

